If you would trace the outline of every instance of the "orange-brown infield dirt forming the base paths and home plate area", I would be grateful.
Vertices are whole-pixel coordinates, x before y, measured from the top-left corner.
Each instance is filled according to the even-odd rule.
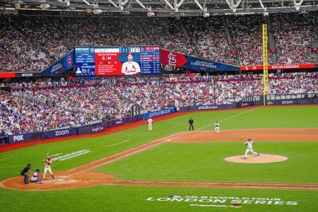
[[[267,183],[235,183],[235,182],[149,182],[149,181],[116,181],[112,175],[101,172],[91,172],[101,165],[112,163],[129,155],[145,151],[161,143],[202,143],[213,141],[246,141],[248,138],[255,141],[317,141],[318,129],[249,129],[220,131],[187,131],[179,132],[163,139],[131,148],[129,150],[110,155],[92,163],[73,168],[66,172],[56,172],[56,179],[48,179],[42,184],[30,182],[25,185],[23,177],[12,177],[0,182],[0,187],[29,191],[75,189],[90,187],[98,184],[113,185],[143,185],[143,186],[175,186],[175,187],[245,187],[245,188],[271,188],[271,189],[318,189],[318,184],[267,184]]]

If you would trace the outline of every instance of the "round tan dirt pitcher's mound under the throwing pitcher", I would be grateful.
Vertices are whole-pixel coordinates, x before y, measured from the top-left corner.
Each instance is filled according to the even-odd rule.
[[[288,160],[287,157],[281,155],[266,155],[261,154],[257,155],[247,155],[247,159],[244,158],[244,155],[237,155],[229,158],[225,158],[225,161],[233,163],[275,163]]]

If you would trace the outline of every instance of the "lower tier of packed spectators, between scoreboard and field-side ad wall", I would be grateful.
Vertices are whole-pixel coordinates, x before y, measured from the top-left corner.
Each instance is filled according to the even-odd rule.
[[[318,72],[271,73],[270,94],[318,93]],[[170,74],[93,81],[29,81],[3,84],[1,134],[21,134],[81,126],[131,115],[141,110],[192,105],[220,105],[263,93],[261,74],[201,76]]]

